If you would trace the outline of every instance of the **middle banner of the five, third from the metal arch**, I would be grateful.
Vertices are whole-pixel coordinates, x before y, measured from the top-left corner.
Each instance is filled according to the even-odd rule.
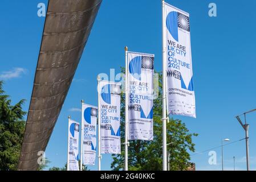
[[[121,154],[120,86],[120,83],[100,81],[101,154]]]

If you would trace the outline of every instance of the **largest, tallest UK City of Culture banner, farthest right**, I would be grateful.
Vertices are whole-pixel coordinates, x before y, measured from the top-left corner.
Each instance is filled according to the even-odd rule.
[[[168,114],[196,118],[189,14],[165,3]]]

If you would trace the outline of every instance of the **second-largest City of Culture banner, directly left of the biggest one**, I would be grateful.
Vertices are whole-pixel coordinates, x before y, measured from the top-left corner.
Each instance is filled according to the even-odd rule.
[[[153,140],[154,55],[128,52],[128,139]]]

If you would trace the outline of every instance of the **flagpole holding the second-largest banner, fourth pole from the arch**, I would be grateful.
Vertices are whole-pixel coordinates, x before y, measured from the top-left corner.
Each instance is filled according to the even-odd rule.
[[[124,171],[128,171],[128,47],[125,46],[125,151],[124,151]]]

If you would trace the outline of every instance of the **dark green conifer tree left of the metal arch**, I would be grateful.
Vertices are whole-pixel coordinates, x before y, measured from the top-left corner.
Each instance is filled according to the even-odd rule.
[[[17,170],[25,131],[26,112],[22,110],[25,100],[11,105],[2,86],[3,81],[0,81],[0,171]]]

